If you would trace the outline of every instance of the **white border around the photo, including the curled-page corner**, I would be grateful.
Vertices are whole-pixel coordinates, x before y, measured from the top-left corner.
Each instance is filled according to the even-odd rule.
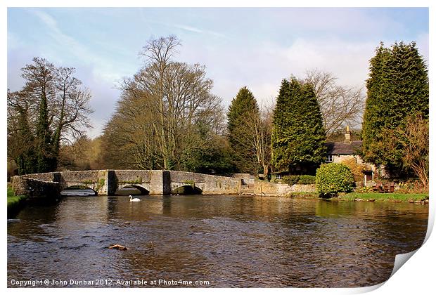
[[[233,1],[199,1],[199,0],[186,0],[186,1],[177,1],[177,0],[167,0],[167,1],[135,1],[135,0],[124,0],[124,1],[115,1],[115,0],[107,0],[107,1],[54,1],[54,0],[41,0],[41,1],[31,1],[31,0],[4,0],[1,1],[2,9],[0,15],[0,23],[1,23],[1,34],[3,35],[3,40],[7,39],[7,8],[8,7],[140,7],[140,6],[148,6],[148,7],[186,7],[186,6],[199,6],[199,7],[430,7],[430,49],[434,48],[434,38],[432,38],[432,27],[435,27],[435,9],[434,4],[430,0],[416,0],[416,1],[408,1],[408,0],[397,0],[397,1],[380,1],[380,0],[366,0],[366,1],[345,1],[345,0],[336,0],[336,1],[260,1],[260,0],[252,0],[252,1],[241,1],[241,0],[233,0]],[[183,5],[182,5],[183,4]],[[1,88],[3,90],[4,95],[6,95],[7,83],[6,83],[6,65],[7,65],[7,51],[6,51],[6,43],[1,47],[1,65],[4,65],[3,70],[1,72],[1,77],[3,79],[0,80]],[[432,89],[434,87],[433,70],[430,64],[430,57],[432,56],[432,51],[429,53],[429,77],[430,77],[430,126],[433,127],[433,113],[434,113],[434,103],[432,100],[434,99],[434,95],[432,95]],[[4,118],[4,124],[1,128],[2,138],[6,138],[6,100],[4,100],[4,106],[1,108],[2,117]],[[435,129],[430,128],[430,150],[435,150],[432,147],[435,147]],[[1,146],[4,157],[1,159],[3,176],[6,176],[6,140],[4,140],[4,144]],[[434,152],[430,153],[430,163],[433,164],[434,161]],[[431,167],[430,164],[430,167]],[[430,183],[432,183],[433,179],[435,179],[434,170],[430,170]],[[6,192],[6,184],[2,183],[3,192]],[[430,186],[430,196],[435,196],[435,190],[433,186]],[[429,227],[428,227],[428,235],[426,237],[427,242],[416,251],[416,254],[413,255],[410,261],[406,263],[406,266],[400,268],[395,275],[393,275],[390,280],[374,291],[374,294],[428,294],[430,290],[434,291],[434,283],[433,283],[433,275],[432,270],[435,268],[435,254],[433,249],[435,249],[435,238],[430,236],[430,232],[432,230],[432,226],[434,224],[435,218],[435,203],[432,202],[432,197],[430,197],[430,214],[429,214]],[[6,216],[6,206],[1,206],[1,210],[3,210],[4,215]],[[6,242],[6,223],[4,222],[3,236]],[[4,268],[3,268],[3,286],[6,288],[6,247],[4,247]],[[239,293],[239,292],[250,292],[253,294],[260,294],[261,292],[268,291],[269,293],[293,293],[293,294],[354,294],[361,293],[365,291],[370,291],[375,287],[366,287],[366,288],[357,288],[357,289],[207,289],[208,293]],[[129,292],[132,293],[143,293],[146,291],[147,293],[152,294],[166,294],[167,292],[172,292],[176,289],[129,289]],[[34,292],[43,292],[46,293],[58,293],[59,289],[8,289],[7,290],[11,294],[16,293],[34,293]],[[82,289],[82,291],[86,292],[102,292],[105,294],[119,294],[120,291],[124,293],[125,289]],[[181,294],[198,294],[203,293],[204,289],[177,289],[178,293]],[[66,293],[77,293],[77,289],[63,289],[62,292]]]

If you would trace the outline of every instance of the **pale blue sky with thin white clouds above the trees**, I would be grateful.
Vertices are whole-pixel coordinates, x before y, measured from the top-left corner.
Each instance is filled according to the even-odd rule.
[[[307,70],[331,72],[343,86],[364,87],[380,41],[416,41],[428,60],[428,8],[8,8],[7,86],[20,90],[32,58],[75,67],[92,93],[101,134],[120,98],[123,77],[145,62],[153,37],[181,39],[174,60],[206,66],[224,106],[243,86],[259,103],[281,80]]]

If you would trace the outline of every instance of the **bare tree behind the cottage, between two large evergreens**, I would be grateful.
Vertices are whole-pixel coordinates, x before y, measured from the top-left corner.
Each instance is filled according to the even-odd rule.
[[[307,71],[303,80],[314,88],[327,134],[345,126],[360,129],[365,100],[362,88],[339,86],[333,74],[319,70]]]

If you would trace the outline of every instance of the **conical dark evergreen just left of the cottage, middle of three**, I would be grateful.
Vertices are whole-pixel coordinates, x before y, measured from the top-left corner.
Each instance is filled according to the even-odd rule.
[[[283,79],[273,117],[272,162],[278,171],[314,173],[326,156],[326,133],[314,89]]]

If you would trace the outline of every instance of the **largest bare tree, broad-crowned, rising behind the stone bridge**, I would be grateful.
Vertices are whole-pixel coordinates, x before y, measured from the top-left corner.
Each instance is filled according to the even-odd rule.
[[[222,133],[221,99],[210,93],[212,80],[205,67],[178,63],[172,53],[175,37],[149,41],[142,53],[148,58],[132,78],[124,79],[117,110],[105,126],[107,152],[122,153],[114,166],[174,169],[181,154],[203,133]],[[103,144],[104,146],[104,144]],[[111,158],[110,155],[108,158]]]

